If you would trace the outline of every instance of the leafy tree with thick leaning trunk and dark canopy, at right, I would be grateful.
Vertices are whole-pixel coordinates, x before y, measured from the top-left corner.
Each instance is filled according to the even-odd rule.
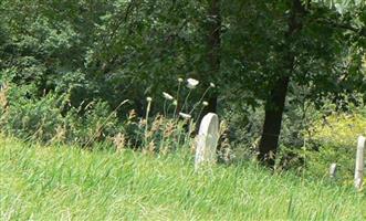
[[[300,0],[238,1],[227,8],[227,13],[237,14],[228,18],[230,29],[223,36],[224,54],[230,54],[224,64],[227,82],[233,98],[243,94],[240,98],[254,106],[264,102],[259,159],[266,165],[274,165],[285,98],[292,88],[306,86],[313,102],[330,95],[337,102],[343,94],[364,88],[365,10],[357,7],[359,13],[348,15]],[[362,28],[352,30],[356,20]]]

